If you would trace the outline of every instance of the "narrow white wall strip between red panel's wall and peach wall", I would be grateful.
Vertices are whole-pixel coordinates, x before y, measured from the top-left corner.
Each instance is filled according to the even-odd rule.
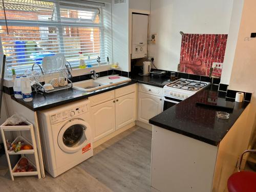
[[[229,84],[231,70],[234,61],[234,54],[236,52],[238,33],[241,23],[244,0],[234,0],[232,15],[230,20],[230,27],[227,39],[226,52],[223,62],[223,69],[221,75],[221,83]]]

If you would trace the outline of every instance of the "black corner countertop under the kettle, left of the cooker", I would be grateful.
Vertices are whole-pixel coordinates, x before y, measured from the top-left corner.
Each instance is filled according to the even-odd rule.
[[[163,88],[165,86],[165,84],[169,83],[169,76],[142,76],[142,75],[138,75],[138,74],[134,74],[132,75],[131,79],[136,80],[140,83],[144,83],[144,84],[149,84],[150,86],[156,86],[156,87],[160,87]]]

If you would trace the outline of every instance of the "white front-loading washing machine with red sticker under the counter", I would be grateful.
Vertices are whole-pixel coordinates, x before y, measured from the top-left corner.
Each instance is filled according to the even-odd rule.
[[[93,156],[90,101],[38,112],[45,169],[53,177]]]

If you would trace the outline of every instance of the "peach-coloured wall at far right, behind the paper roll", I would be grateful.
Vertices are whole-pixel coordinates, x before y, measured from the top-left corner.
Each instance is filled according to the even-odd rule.
[[[256,38],[250,37],[256,32],[256,1],[244,1],[242,19],[233,60],[229,89],[251,92],[251,108],[245,129],[255,129],[256,126]]]

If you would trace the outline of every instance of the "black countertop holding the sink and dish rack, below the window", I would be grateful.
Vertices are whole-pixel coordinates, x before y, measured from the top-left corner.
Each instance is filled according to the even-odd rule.
[[[129,82],[117,84],[115,86],[98,89],[92,92],[84,92],[84,91],[70,88],[70,89],[61,90],[57,92],[46,93],[43,95],[40,93],[33,93],[33,101],[30,101],[30,102],[25,102],[23,99],[16,99],[14,95],[12,95],[11,98],[17,101],[18,103],[26,106],[32,111],[41,111],[41,110],[53,108],[55,106],[59,106],[61,104],[66,104],[69,102],[88,98],[90,96],[97,95],[100,93],[104,93],[104,92],[115,90],[121,87],[129,86],[130,84],[134,84],[136,82],[137,81],[132,80]]]

